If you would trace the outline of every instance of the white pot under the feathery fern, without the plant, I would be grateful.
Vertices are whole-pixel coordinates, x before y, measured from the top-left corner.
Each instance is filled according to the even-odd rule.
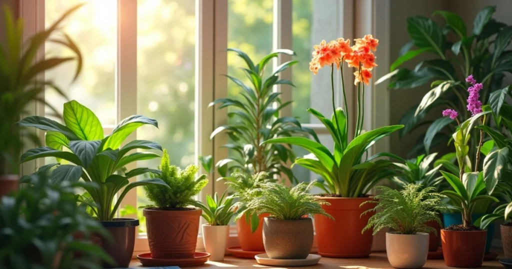
[[[429,254],[429,234],[386,233],[386,252],[389,263],[395,268],[421,268]]]

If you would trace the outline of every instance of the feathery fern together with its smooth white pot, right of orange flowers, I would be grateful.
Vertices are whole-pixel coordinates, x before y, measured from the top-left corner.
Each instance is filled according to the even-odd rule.
[[[381,194],[366,203],[377,206],[364,214],[377,213],[369,219],[365,230],[373,227],[374,234],[384,227],[394,230],[386,233],[386,252],[393,267],[423,267],[429,253],[429,233],[437,234],[426,223],[435,221],[441,224],[441,195],[434,193],[433,187],[423,188],[415,183],[406,185],[401,191],[384,186],[376,189]]]

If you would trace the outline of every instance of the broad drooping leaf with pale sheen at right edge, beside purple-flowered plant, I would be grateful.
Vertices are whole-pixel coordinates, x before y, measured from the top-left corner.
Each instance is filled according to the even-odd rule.
[[[483,160],[483,180],[487,194],[493,194],[508,162],[508,148],[493,151]]]

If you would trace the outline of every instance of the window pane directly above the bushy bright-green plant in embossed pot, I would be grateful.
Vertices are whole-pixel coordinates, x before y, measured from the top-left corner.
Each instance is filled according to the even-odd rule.
[[[137,139],[152,140],[167,149],[170,162],[184,168],[196,162],[194,152],[196,2],[137,1],[137,113],[155,118],[138,129]],[[139,161],[157,168],[160,159]],[[150,203],[137,189],[138,206]],[[142,210],[140,230],[145,232]]]

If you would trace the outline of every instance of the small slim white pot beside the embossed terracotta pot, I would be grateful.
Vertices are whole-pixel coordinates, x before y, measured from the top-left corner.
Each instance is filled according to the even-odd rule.
[[[223,261],[226,241],[229,236],[229,225],[212,226],[203,224],[204,249],[211,256],[210,261]]]

